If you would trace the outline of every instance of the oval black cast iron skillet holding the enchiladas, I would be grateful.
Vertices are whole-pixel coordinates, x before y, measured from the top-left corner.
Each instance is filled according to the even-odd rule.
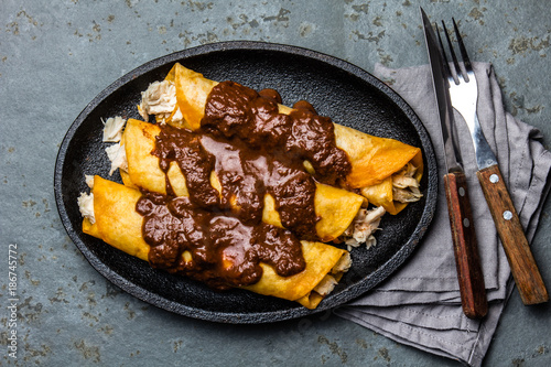
[[[88,192],[85,174],[109,177],[101,119],[138,118],[136,106],[150,83],[162,80],[175,62],[214,80],[235,80],[257,90],[274,88],[284,105],[310,101],[320,115],[370,134],[420,147],[424,158],[423,198],[397,216],[386,215],[378,245],[352,251],[353,267],[337,288],[310,311],[295,302],[241,290],[215,292],[193,280],[149,267],[82,231],[77,207]],[[342,60],[305,48],[261,42],[223,42],[176,52],[136,68],[102,90],[68,129],[55,166],[55,198],[68,236],[90,265],[126,292],[161,309],[225,323],[264,323],[336,307],[391,276],[419,246],[433,217],[436,162],[429,134],[412,109],[387,85]]]

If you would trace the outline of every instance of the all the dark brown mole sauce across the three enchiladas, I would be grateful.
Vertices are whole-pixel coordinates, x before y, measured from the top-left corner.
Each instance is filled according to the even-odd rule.
[[[335,145],[328,118],[306,101],[291,115],[279,114],[278,104],[273,89],[223,82],[208,96],[198,131],[160,126],[153,154],[165,174],[177,163],[190,197],[175,197],[166,177],[166,195],[143,192],[138,201],[152,267],[219,290],[258,282],[260,262],[281,277],[304,270],[300,239],[317,238],[314,177],[335,184],[350,163]],[[210,185],[213,171],[222,193]],[[285,229],[262,223],[267,194]]]

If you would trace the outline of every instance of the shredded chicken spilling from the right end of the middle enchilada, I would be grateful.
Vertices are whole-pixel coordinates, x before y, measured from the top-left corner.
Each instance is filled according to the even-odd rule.
[[[344,231],[348,250],[366,244],[366,248],[377,245],[374,233],[379,228],[380,219],[386,211],[382,206],[374,209],[359,209],[350,226]]]

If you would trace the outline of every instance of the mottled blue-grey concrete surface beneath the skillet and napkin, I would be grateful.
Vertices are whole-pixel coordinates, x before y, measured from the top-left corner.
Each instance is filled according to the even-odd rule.
[[[428,62],[419,15],[460,21],[475,61],[491,62],[507,109],[551,138],[547,1],[84,1],[0,3],[0,365],[9,323],[8,246],[18,246],[23,366],[421,366],[457,363],[331,314],[261,326],[173,315],[121,292],[66,236],[53,194],[65,131],[99,91],[168,53],[228,40],[309,47],[368,72]],[[551,287],[551,204],[532,244]],[[551,307],[512,295],[487,366],[551,365]]]

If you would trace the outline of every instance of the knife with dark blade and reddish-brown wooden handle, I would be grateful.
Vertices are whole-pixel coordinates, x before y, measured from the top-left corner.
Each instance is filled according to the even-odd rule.
[[[468,199],[467,181],[458,142],[454,132],[453,109],[447,89],[447,78],[443,74],[442,50],[423,9],[424,39],[432,71],[432,80],[439,106],[439,116],[444,143],[446,174],[444,190],[450,214],[455,265],[463,312],[469,319],[482,319],[488,312],[484,273],[478,255],[478,245]]]

